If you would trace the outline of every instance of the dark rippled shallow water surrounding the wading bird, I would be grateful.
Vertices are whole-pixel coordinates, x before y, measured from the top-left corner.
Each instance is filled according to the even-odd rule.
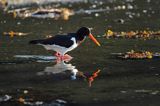
[[[114,31],[158,30],[159,12],[157,3],[136,0],[135,10],[112,10],[113,5],[124,2],[107,2],[100,7],[110,6],[106,12],[79,14],[71,16],[68,21],[53,19],[27,18],[13,19],[11,15],[0,15],[0,95],[10,95],[12,99],[0,102],[2,106],[23,105],[18,98],[43,101],[54,106],[56,99],[67,101],[64,105],[153,105],[159,106],[160,62],[159,59],[123,60],[112,53],[134,50],[160,51],[159,40],[110,39],[103,38],[106,29]],[[141,6],[141,3],[144,5]],[[94,4],[94,3],[93,3]],[[92,9],[93,4],[75,4],[79,10]],[[88,5],[90,6],[89,8]],[[143,10],[148,9],[148,13]],[[94,6],[93,6],[94,7]],[[142,14],[140,17],[128,18],[126,11]],[[155,11],[150,14],[150,11]],[[149,14],[151,16],[149,16]],[[152,20],[151,20],[152,18]],[[121,23],[117,20],[124,19]],[[153,21],[154,20],[154,21]],[[97,47],[89,39],[69,52],[73,59],[65,63],[56,63],[53,52],[41,46],[29,45],[33,39],[45,38],[50,34],[74,32],[80,26],[92,27],[92,33],[101,42]],[[26,36],[2,36],[3,32],[18,31],[30,33]],[[73,77],[73,69],[82,75]],[[88,79],[101,70],[89,87]],[[27,90],[28,93],[24,93]],[[32,102],[32,101],[31,101]],[[61,104],[63,105],[63,104]],[[45,106],[45,104],[44,104]]]

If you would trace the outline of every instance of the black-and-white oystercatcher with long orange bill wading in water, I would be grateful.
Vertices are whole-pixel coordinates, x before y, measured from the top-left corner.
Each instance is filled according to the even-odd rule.
[[[81,27],[76,33],[68,33],[67,35],[56,35],[47,39],[32,40],[30,44],[42,45],[47,50],[56,51],[55,56],[63,60],[69,57],[66,53],[75,49],[80,43],[84,41],[86,36],[94,41],[98,46],[100,43],[91,34],[87,27]]]

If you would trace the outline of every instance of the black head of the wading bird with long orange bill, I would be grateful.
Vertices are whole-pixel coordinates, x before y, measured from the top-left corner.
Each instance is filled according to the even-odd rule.
[[[91,34],[91,31],[89,28],[87,27],[81,27],[80,29],[78,29],[78,31],[76,32],[77,34],[77,40],[78,41],[83,41],[86,36],[89,36],[89,38],[96,43],[98,46],[100,46],[100,43],[96,40],[96,38]]]

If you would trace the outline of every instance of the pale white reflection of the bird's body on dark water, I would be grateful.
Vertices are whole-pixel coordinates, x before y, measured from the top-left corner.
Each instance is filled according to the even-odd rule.
[[[48,66],[44,69],[42,72],[38,72],[37,75],[50,75],[50,74],[59,74],[64,73],[66,71],[70,71],[71,73],[71,79],[75,80],[77,75],[83,76],[82,72],[79,72],[75,66],[72,64],[67,64],[64,61],[61,61],[53,66]]]

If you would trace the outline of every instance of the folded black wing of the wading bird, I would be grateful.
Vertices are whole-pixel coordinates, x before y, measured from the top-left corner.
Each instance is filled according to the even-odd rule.
[[[71,40],[72,36],[69,35],[56,35],[54,37],[48,38],[41,42],[42,44],[55,44],[63,47],[70,47],[73,45],[73,41]]]

